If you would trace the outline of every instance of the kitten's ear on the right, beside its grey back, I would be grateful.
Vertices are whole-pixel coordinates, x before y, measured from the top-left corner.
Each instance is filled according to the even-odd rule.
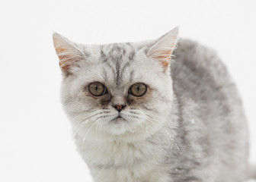
[[[158,41],[149,49],[147,55],[160,61],[162,67],[166,70],[171,62],[171,54],[175,49],[177,39],[178,27],[158,39]]]

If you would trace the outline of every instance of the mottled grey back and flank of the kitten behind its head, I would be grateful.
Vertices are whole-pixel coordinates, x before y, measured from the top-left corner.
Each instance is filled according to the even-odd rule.
[[[174,56],[171,77],[180,113],[179,143],[185,155],[193,160],[197,156],[195,160],[205,165],[215,161],[216,181],[242,179],[248,155],[247,126],[226,66],[212,49],[187,39],[181,39]]]

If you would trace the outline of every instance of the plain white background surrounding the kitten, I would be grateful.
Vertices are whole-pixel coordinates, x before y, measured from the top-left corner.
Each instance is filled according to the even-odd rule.
[[[91,181],[59,102],[52,31],[82,43],[183,37],[219,52],[238,85],[256,162],[256,2],[1,1],[0,181]]]

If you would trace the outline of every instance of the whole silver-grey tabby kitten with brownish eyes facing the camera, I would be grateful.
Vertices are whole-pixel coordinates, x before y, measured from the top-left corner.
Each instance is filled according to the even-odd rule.
[[[215,52],[187,39],[175,49],[177,39],[178,28],[109,45],[53,34],[63,108],[95,182],[245,180],[248,131],[235,83]]]

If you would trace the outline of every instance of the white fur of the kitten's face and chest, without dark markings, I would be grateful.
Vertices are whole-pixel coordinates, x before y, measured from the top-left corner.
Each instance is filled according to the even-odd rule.
[[[79,67],[72,67],[72,75],[63,79],[62,103],[72,121],[78,150],[91,169],[95,182],[165,182],[170,179],[167,166],[163,165],[165,158],[159,155],[164,149],[156,145],[170,148],[174,146],[174,143],[170,143],[173,133],[165,126],[165,122],[170,119],[172,83],[170,68],[163,72],[159,63],[162,60],[156,60],[154,53],[159,54],[162,49],[174,49],[177,35],[178,29],[165,35],[152,46],[148,55],[143,49],[136,52],[136,61],[130,65],[130,70],[134,71],[133,80],[130,80],[130,70],[124,70],[121,85],[114,85],[115,74],[110,69],[107,70],[107,77],[103,74],[105,65],[102,64],[101,52],[97,46],[78,48],[79,56],[83,49],[93,56],[81,61]],[[66,39],[62,39],[62,36],[54,36],[53,39],[56,39],[56,48],[67,48],[68,44],[63,43]],[[137,49],[147,44],[148,42],[139,42],[133,46]],[[69,45],[71,50],[76,47],[75,44]],[[105,49],[104,51],[109,51]],[[129,47],[126,49],[129,50]],[[57,53],[74,54],[73,51]],[[124,64],[125,61],[120,66]],[[147,111],[140,105],[127,105],[120,114],[125,121],[114,122],[118,112],[111,105],[107,109],[91,106],[94,99],[86,95],[85,86],[95,81],[106,84],[113,102],[117,103],[123,102],[123,96],[133,83],[145,83],[149,86],[150,94],[146,107],[155,109],[156,112]],[[173,124],[172,127],[174,126]]]

